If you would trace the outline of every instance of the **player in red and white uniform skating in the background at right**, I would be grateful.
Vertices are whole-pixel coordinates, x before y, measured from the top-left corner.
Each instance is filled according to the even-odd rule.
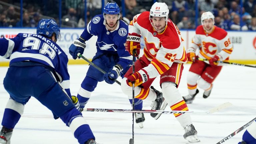
[[[227,32],[214,26],[214,15],[211,12],[202,14],[201,23],[202,25],[196,28],[191,47],[186,51],[188,61],[193,62],[187,76],[189,94],[183,97],[187,103],[192,103],[199,92],[197,86],[204,90],[203,98],[209,97],[212,83],[222,68],[216,61],[228,60],[233,51]],[[198,58],[209,61],[200,61]]]

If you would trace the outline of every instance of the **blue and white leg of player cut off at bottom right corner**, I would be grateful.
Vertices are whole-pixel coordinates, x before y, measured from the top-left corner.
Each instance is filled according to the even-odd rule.
[[[256,144],[256,121],[243,134],[243,141],[238,144]]]

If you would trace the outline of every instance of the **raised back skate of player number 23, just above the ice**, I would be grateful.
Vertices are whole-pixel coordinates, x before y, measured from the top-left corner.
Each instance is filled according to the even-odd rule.
[[[153,86],[150,87],[156,93],[156,99],[151,103],[151,110],[164,110],[167,106],[167,102],[164,101],[163,93],[156,90]],[[151,117],[157,120],[162,113],[150,113]]]

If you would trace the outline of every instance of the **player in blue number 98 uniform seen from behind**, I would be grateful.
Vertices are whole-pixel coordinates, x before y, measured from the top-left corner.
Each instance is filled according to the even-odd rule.
[[[55,43],[60,30],[52,19],[42,19],[37,34],[19,33],[0,39],[0,55],[10,59],[4,88],[10,94],[5,107],[0,144],[10,144],[12,131],[31,96],[50,109],[71,129],[80,144],[96,144],[95,137],[78,111],[69,90],[68,57]]]

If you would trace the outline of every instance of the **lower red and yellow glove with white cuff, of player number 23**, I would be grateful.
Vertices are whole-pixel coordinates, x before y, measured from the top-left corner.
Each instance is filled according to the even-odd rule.
[[[126,83],[127,85],[132,87],[132,83],[134,82],[134,86],[139,86],[142,83],[148,81],[148,73],[147,71],[145,71],[144,69],[139,70],[138,72],[134,73],[134,74],[130,74],[127,77]]]

